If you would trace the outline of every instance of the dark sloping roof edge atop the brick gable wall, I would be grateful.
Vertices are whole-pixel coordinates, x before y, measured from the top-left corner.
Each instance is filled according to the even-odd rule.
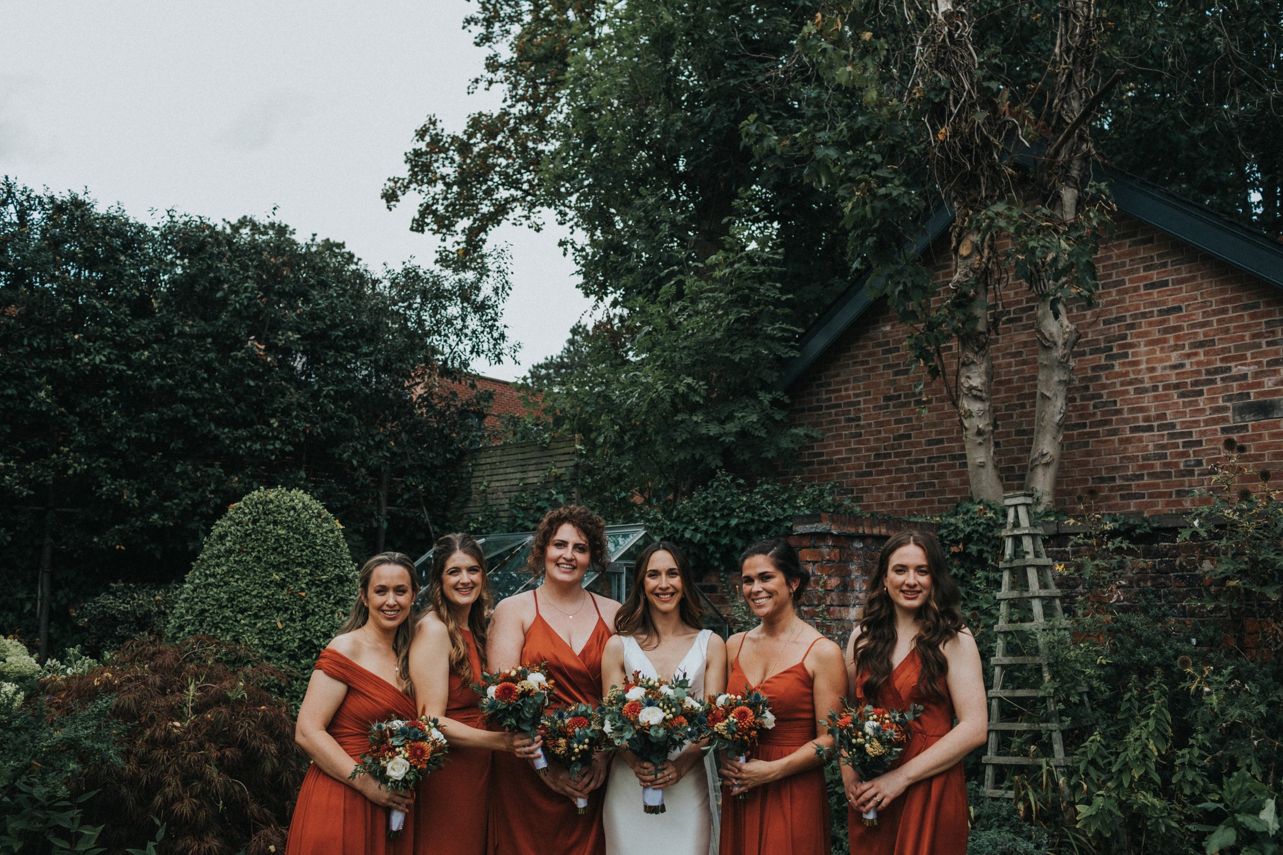
[[[1283,242],[1121,169],[1097,164],[1094,172],[1096,178],[1109,186],[1121,213],[1283,288]],[[926,251],[952,222],[953,212],[944,206],[937,210],[908,251],[908,258]],[[861,277],[811,324],[798,342],[798,355],[784,365],[784,388],[806,373],[860,319],[872,303],[870,292],[879,285],[880,278],[870,282],[867,274]]]

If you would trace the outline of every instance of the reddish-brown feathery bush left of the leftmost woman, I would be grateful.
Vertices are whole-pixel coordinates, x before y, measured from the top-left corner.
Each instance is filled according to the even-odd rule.
[[[89,761],[74,778],[98,845],[124,855],[164,823],[173,855],[284,851],[305,770],[286,704],[264,687],[285,674],[245,647],[208,637],[130,642],[112,664],[46,685],[55,728],[83,710],[130,728],[119,765]],[[272,850],[271,847],[276,847]]]

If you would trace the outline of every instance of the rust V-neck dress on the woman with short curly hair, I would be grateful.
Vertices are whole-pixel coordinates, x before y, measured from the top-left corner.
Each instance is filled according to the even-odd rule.
[[[597,609],[597,599],[593,599]],[[539,614],[535,591],[535,622],[526,632],[521,661],[548,663],[548,677],[557,683],[557,699],[565,704],[602,702],[602,651],[611,628],[597,609],[597,626],[577,654]],[[579,814],[574,800],[548,788],[529,761],[512,754],[494,758],[490,813],[491,855],[604,855],[602,831],[604,787],[588,799],[588,813]]]

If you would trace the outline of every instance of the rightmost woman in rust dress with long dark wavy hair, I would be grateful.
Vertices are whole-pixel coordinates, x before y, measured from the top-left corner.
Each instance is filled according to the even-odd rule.
[[[935,538],[905,531],[887,541],[869,590],[847,646],[856,700],[924,709],[885,774],[861,781],[842,767],[852,855],[966,855],[962,758],[984,745],[989,717],[980,652],[962,626],[957,583]],[[870,808],[878,824],[866,827],[862,814]]]

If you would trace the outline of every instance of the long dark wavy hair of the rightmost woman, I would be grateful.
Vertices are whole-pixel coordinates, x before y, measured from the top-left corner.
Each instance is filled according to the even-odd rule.
[[[869,581],[872,594],[865,602],[863,618],[860,620],[860,636],[856,638],[856,679],[863,681],[861,688],[866,699],[872,701],[878,691],[890,679],[890,658],[896,650],[896,604],[887,594],[887,570],[890,556],[902,546],[917,546],[926,554],[926,568],[931,574],[931,596],[917,610],[921,629],[915,646],[922,670],[917,686],[926,697],[943,697],[940,685],[949,673],[949,663],[944,659],[944,645],[962,629],[962,610],[958,604],[962,594],[957,582],[949,576],[944,564],[944,552],[939,542],[929,532],[907,529],[892,535],[878,556],[878,569]]]

